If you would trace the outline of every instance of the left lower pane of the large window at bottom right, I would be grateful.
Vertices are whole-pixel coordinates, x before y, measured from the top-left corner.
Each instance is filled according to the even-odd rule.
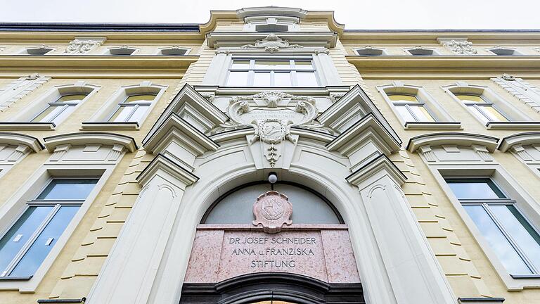
[[[491,220],[482,205],[464,205],[470,218],[473,219],[478,230],[489,243],[501,263],[510,274],[532,274],[529,267],[515,251],[506,236],[499,227]]]

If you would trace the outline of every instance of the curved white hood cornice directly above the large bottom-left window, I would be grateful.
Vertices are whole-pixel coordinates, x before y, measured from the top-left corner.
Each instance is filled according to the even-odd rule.
[[[72,146],[82,146],[86,144],[103,144],[113,146],[115,144],[124,146],[129,152],[137,150],[137,144],[131,137],[125,135],[105,133],[105,132],[79,132],[54,135],[45,137],[45,147],[49,152],[53,152],[57,146],[70,144]]]

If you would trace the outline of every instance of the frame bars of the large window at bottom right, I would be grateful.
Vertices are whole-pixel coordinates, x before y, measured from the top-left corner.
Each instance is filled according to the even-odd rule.
[[[525,254],[524,251],[518,245],[518,242],[514,240],[514,238],[510,234],[510,232],[508,232],[508,230],[504,228],[503,224],[501,224],[501,220],[499,219],[499,217],[494,215],[493,211],[489,208],[489,205],[512,205],[513,208],[515,208],[515,210],[517,210],[517,212],[521,215],[523,220],[525,220],[525,222],[527,222],[527,224],[529,224],[529,226],[532,227],[533,231],[536,232],[536,234],[540,235],[540,230],[538,229],[538,227],[536,227],[536,225],[534,223],[532,223],[527,218],[527,216],[525,216],[525,214],[520,210],[519,206],[516,205],[516,201],[514,199],[512,199],[512,198],[509,198],[506,191],[504,191],[504,189],[501,188],[501,186],[499,186],[493,179],[491,179],[491,177],[482,177],[482,176],[449,177],[449,178],[444,179],[446,184],[449,184],[448,179],[457,179],[457,180],[458,179],[487,179],[487,180],[489,180],[489,182],[491,182],[491,184],[493,184],[496,187],[496,189],[498,189],[501,192],[501,194],[503,194],[503,196],[505,196],[504,198],[458,198],[456,196],[456,194],[454,194],[454,196],[456,196],[456,199],[459,201],[459,203],[461,204],[462,207],[465,206],[465,205],[480,205],[480,206],[482,206],[482,208],[484,209],[486,214],[489,216],[489,218],[494,222],[496,227],[501,231],[501,234],[504,236],[504,238],[508,241],[508,243],[510,243],[510,246],[512,246],[512,248],[519,255],[519,257],[522,259],[522,261],[525,263],[525,265],[529,268],[529,270],[531,270],[532,274],[530,276],[532,276],[532,277],[534,277],[534,276],[540,277],[540,269],[533,265],[533,263],[530,261],[527,254]],[[463,209],[465,209],[465,208],[463,208]],[[465,210],[465,213],[467,213],[467,210]],[[470,215],[469,215],[469,217],[470,217]],[[474,222],[474,220],[472,218],[470,220],[472,220]],[[476,223],[475,223],[475,225],[476,225]],[[480,231],[480,229],[479,229],[479,231]],[[482,234],[482,232],[480,232],[480,234]],[[483,234],[482,234],[482,237],[484,237]],[[539,246],[540,246],[540,244],[539,244]],[[505,267],[505,269],[506,269],[506,267]],[[509,271],[507,270],[507,272],[509,272]],[[508,274],[510,274],[510,273],[508,273]],[[510,274],[510,276],[513,277],[513,278],[516,278],[516,277],[529,277],[529,275],[523,275],[523,274]]]

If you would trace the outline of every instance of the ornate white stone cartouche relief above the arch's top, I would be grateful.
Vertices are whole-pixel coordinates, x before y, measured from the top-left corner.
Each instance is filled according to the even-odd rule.
[[[287,102],[285,102],[287,100]],[[250,101],[253,106],[250,105]],[[255,106],[255,101],[262,101],[265,106]],[[289,105],[290,101],[297,101]],[[315,121],[318,110],[315,99],[310,96],[295,96],[281,91],[263,91],[250,96],[236,96],[229,101],[227,108],[229,120],[212,131],[213,134],[246,126],[255,129],[249,144],[262,141],[264,157],[271,167],[281,157],[282,141],[288,140],[296,144],[290,134],[293,125],[304,128],[323,127]]]

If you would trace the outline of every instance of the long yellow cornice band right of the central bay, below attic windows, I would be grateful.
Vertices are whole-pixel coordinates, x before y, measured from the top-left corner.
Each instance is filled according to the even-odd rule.
[[[345,56],[364,78],[400,75],[429,77],[497,77],[503,72],[540,78],[540,56]],[[426,75],[418,75],[418,74]],[[435,75],[434,75],[435,74]]]

